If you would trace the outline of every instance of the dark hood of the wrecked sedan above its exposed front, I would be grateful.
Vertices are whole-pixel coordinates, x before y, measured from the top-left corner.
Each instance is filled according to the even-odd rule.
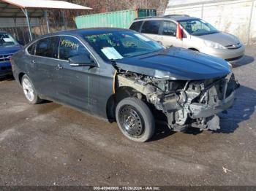
[[[199,80],[225,77],[230,74],[228,63],[192,50],[177,47],[118,60],[116,66],[125,71],[173,80]]]

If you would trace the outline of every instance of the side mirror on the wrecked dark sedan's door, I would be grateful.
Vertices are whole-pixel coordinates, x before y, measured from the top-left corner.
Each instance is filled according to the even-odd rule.
[[[97,67],[97,63],[90,58],[90,55],[75,55],[69,58],[69,65]]]

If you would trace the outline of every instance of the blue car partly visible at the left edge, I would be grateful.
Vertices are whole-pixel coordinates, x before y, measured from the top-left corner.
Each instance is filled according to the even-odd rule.
[[[10,34],[0,31],[0,77],[12,74],[10,57],[21,48]]]

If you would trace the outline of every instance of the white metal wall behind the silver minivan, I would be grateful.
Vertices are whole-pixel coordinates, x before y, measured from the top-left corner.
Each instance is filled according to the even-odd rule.
[[[244,43],[256,43],[255,0],[170,0],[165,15],[170,14],[201,17]]]

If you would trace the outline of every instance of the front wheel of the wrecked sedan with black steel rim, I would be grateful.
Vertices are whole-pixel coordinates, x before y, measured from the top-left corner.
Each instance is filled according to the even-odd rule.
[[[128,139],[146,142],[154,135],[154,116],[138,98],[124,98],[116,106],[116,121]]]

